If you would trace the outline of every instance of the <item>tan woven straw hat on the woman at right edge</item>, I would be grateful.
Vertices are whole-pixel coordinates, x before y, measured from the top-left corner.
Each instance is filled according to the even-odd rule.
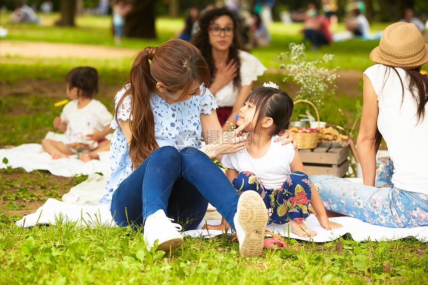
[[[385,28],[379,46],[370,53],[376,63],[412,69],[428,62],[428,45],[415,24],[398,22]]]

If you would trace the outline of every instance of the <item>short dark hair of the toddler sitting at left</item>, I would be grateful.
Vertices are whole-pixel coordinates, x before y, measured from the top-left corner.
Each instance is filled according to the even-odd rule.
[[[78,95],[92,98],[98,93],[98,72],[90,66],[79,66],[70,70],[65,77],[68,88],[77,87]]]

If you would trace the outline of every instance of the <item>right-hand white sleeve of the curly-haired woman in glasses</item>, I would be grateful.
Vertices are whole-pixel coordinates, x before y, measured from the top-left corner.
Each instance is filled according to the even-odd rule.
[[[241,60],[241,85],[250,85],[251,82],[256,81],[257,77],[263,75],[267,68],[252,54],[246,51],[239,51],[239,58]]]

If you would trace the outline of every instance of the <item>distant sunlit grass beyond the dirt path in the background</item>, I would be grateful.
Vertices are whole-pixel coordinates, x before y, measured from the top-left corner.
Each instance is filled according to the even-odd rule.
[[[0,24],[8,29],[8,35],[4,40],[30,40],[46,42],[66,42],[80,44],[95,44],[114,46],[111,35],[111,18],[106,16],[83,15],[76,18],[76,27],[58,27],[54,25],[59,18],[58,13],[50,15],[40,14],[41,24],[10,24],[7,23],[8,13],[3,13]],[[156,20],[158,38],[155,40],[124,38],[121,47],[143,48],[145,46],[157,46],[174,37],[183,25],[180,18],[159,17]],[[385,28],[387,23],[375,23],[374,31]],[[300,43],[302,35],[299,30],[302,23],[283,24],[274,22],[269,25],[272,42],[269,47],[256,47],[252,53],[269,68],[277,68],[278,55],[286,52],[290,43]],[[339,25],[339,31],[343,25]],[[379,44],[379,40],[363,41],[359,39],[332,43],[320,50],[308,52],[308,59],[320,59],[324,53],[335,54],[332,64],[341,69],[365,70],[373,63],[368,58],[370,51]],[[351,53],[351,54],[350,54]],[[329,66],[331,67],[331,66]]]

